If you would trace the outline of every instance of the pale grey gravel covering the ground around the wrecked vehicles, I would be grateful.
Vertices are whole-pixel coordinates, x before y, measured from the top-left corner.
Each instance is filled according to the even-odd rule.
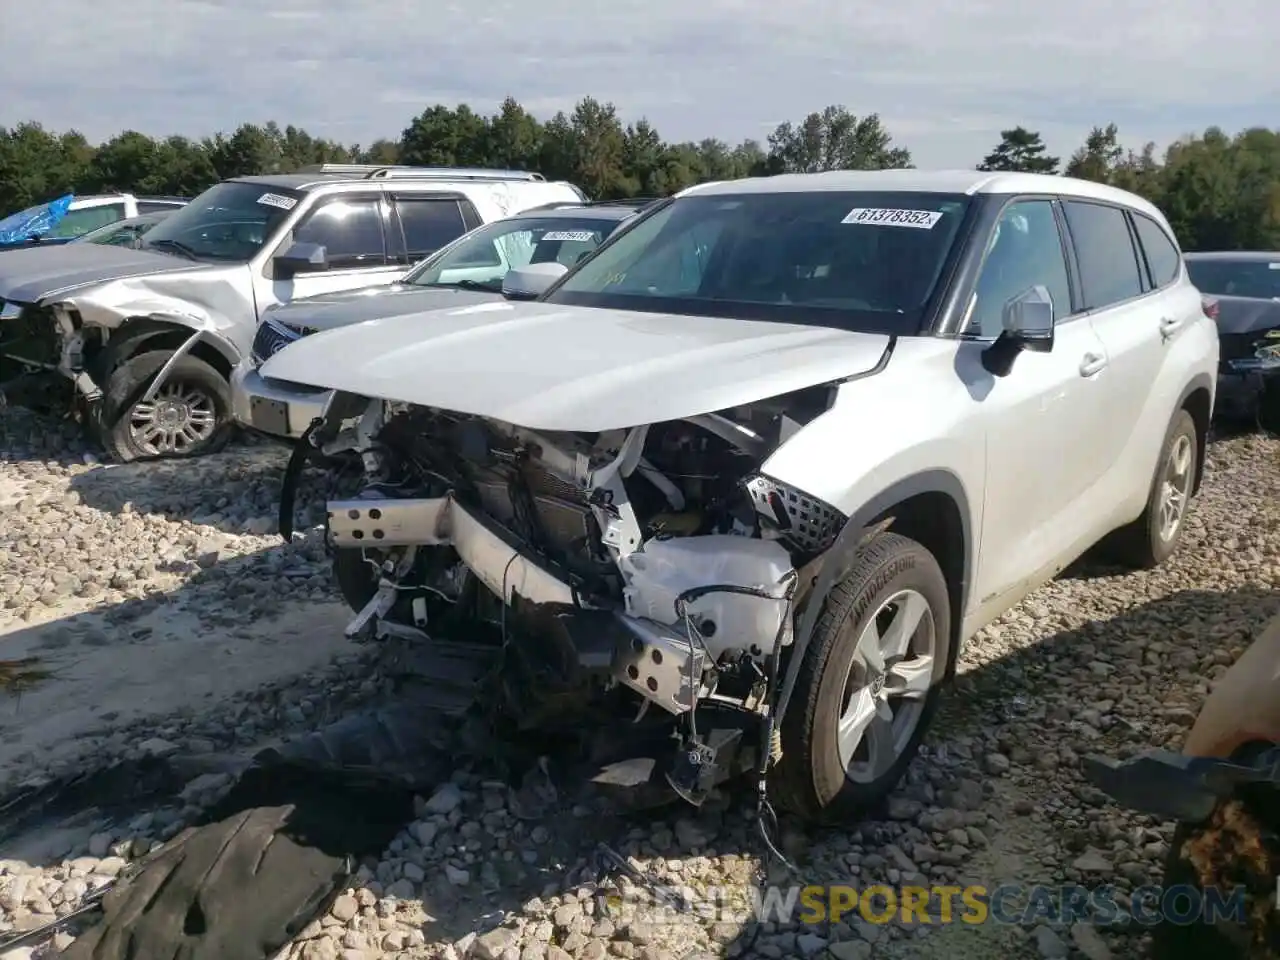
[[[26,742],[26,731],[40,728],[37,708],[101,699],[92,685],[106,668],[104,650],[138,666],[214,635],[220,663],[230,663],[271,648],[303,611],[329,617],[333,634],[343,614],[314,532],[289,547],[266,535],[284,465],[279,451],[237,447],[177,468],[102,468],[86,463],[69,433],[14,411],[0,434],[0,658],[19,649],[55,673],[0,713],[0,744],[24,736],[22,751],[0,754],[0,783],[73,768],[86,754],[268,742],[383,689],[367,657],[337,643],[323,646],[321,621],[310,620],[303,644],[282,645],[296,653],[320,644],[323,655],[292,657],[292,671],[264,657],[260,676],[246,669],[195,698],[184,691],[200,690],[198,676],[172,676],[177,691],[154,703],[76,714],[81,727],[67,721],[46,731],[50,742]],[[886,819],[783,832],[803,882],[1112,882],[1124,891],[1158,881],[1171,826],[1106,803],[1082,781],[1079,756],[1178,746],[1215,677],[1280,612],[1277,494],[1280,440],[1216,440],[1183,549],[1165,568],[1085,566],[982,631]],[[165,632],[174,622],[182,628]],[[145,655],[131,654],[140,646]],[[95,655],[93,676],[77,673]],[[134,690],[140,698],[146,700]],[[128,703],[129,694],[115,699]],[[207,705],[191,705],[201,699]],[[52,742],[70,727],[79,736],[74,748]],[[13,859],[0,860],[0,931],[69,911],[224,785],[205,777],[188,790],[186,806],[145,814],[125,831],[92,833],[88,824],[33,838],[22,855],[4,851]],[[600,822],[580,809],[526,819],[517,806],[507,785],[460,771],[421,801],[420,818],[361,868],[356,884],[285,956],[1102,960],[1144,951],[1137,932],[1046,923],[801,928],[746,927],[731,911],[649,922],[613,915],[576,882],[598,841],[654,879],[727,888],[741,902],[762,877],[756,824],[742,800],[631,822]],[[777,867],[773,878],[788,882]]]

